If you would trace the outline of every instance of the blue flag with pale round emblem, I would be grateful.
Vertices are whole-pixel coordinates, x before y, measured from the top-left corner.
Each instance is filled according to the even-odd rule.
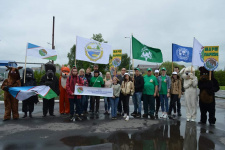
[[[192,51],[191,47],[172,44],[172,61],[192,62]]]

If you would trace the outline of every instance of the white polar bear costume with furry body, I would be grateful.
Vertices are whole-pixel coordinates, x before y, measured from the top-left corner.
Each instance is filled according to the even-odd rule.
[[[195,121],[198,102],[198,78],[195,76],[195,69],[193,67],[183,68],[180,71],[180,75],[184,79],[184,98],[186,104],[187,121]]]

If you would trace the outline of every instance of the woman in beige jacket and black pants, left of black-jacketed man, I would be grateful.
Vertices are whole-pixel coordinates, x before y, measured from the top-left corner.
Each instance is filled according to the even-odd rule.
[[[125,121],[129,120],[129,101],[130,96],[134,94],[134,83],[131,81],[131,77],[128,73],[124,74],[124,79],[121,85],[121,91],[123,95],[123,110]]]

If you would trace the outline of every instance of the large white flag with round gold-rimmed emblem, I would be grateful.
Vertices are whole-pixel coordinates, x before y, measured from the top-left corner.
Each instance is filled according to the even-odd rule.
[[[98,64],[108,64],[111,46],[77,36],[76,59]]]

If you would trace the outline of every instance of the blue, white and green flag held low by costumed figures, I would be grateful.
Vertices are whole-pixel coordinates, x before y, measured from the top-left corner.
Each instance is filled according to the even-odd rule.
[[[10,87],[9,93],[19,101],[26,100],[29,97],[37,94],[39,97],[45,99],[57,97],[57,94],[49,86],[46,85]]]

